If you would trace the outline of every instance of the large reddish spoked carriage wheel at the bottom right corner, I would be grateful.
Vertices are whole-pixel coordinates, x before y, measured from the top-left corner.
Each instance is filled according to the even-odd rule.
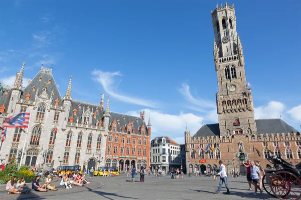
[[[301,180],[291,172],[277,171],[270,186],[277,198],[296,200],[301,197]]]

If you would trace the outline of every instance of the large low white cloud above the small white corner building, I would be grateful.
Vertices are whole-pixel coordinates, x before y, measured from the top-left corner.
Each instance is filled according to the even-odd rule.
[[[172,139],[176,139],[176,142],[180,144],[184,143],[184,132],[186,130],[191,131],[191,135],[194,135],[198,129],[202,126],[202,116],[195,115],[193,113],[180,112],[179,114],[163,113],[160,110],[144,109],[145,113],[150,112],[150,121],[152,123],[152,138],[158,136],[169,136]],[[139,111],[129,111],[127,114],[133,116],[139,116]],[[146,124],[148,122],[148,116],[145,117]]]

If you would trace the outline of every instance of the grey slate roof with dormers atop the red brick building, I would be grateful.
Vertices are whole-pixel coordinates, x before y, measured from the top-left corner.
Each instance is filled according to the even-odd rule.
[[[133,122],[134,124],[134,128],[135,128],[135,134],[140,134],[140,127],[142,124],[144,124],[144,128],[147,132],[148,135],[148,130],[147,130],[147,126],[145,124],[145,121],[143,121],[143,119],[141,117],[137,117],[137,116],[131,116],[131,115],[127,115],[127,114],[121,114],[121,113],[117,113],[117,112],[110,112],[110,121],[109,121],[109,130],[111,130],[111,124],[112,121],[114,120],[114,118],[116,118],[116,121],[119,119],[119,124],[117,122],[117,131],[121,131],[121,127],[126,127],[126,124],[128,124],[128,121],[130,121],[130,123]],[[138,121],[137,121],[137,120]]]

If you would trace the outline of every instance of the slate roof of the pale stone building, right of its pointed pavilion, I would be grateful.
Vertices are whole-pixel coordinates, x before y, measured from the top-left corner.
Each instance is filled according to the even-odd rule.
[[[73,116],[73,122],[77,121],[78,123],[82,122],[82,119],[84,118],[85,113],[88,111],[87,108],[89,106],[89,113],[90,113],[90,121],[92,119],[92,125],[98,125],[99,121],[101,121],[101,124],[103,124],[103,110],[100,109],[100,105],[97,104],[91,104],[86,102],[81,102],[77,100],[72,100],[71,107],[69,111],[69,117],[68,121],[71,116]],[[98,111],[96,111],[98,108]],[[74,114],[74,110],[76,109],[76,114]],[[94,113],[96,112],[96,117],[94,118]]]

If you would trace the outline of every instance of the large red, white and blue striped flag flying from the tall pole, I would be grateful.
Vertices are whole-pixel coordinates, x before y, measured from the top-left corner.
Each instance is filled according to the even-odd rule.
[[[28,127],[30,112],[21,112],[7,117],[3,122],[3,127]]]

